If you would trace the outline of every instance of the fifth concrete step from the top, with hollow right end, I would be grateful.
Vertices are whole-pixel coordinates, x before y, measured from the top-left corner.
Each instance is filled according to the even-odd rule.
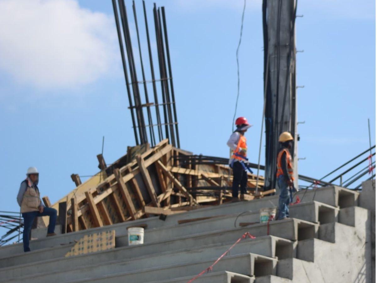
[[[151,280],[166,281],[179,277],[194,277],[203,269],[211,266],[217,258],[208,261],[195,263],[184,263],[181,265],[170,265],[158,268],[139,269],[133,272],[122,272],[101,277],[88,277],[86,280],[74,280],[69,282],[133,282],[141,283]],[[213,266],[213,272],[230,271],[250,277],[257,277],[269,274],[276,274],[277,260],[255,254],[232,255],[222,258]]]

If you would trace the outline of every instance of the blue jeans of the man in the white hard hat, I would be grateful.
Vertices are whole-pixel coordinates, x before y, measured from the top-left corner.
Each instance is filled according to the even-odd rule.
[[[23,240],[23,245],[24,245],[24,252],[29,252],[29,238],[30,238],[30,231],[31,231],[31,226],[33,225],[33,221],[35,217],[39,216],[49,216],[49,224],[48,224],[48,229],[47,233],[54,233],[55,231],[55,223],[56,223],[56,218],[57,218],[57,210],[55,208],[49,208],[49,207],[44,207],[43,212],[40,213],[39,211],[31,211],[31,212],[24,212],[22,214],[22,217],[24,218],[24,230],[23,230],[23,235],[22,235],[22,240]]]

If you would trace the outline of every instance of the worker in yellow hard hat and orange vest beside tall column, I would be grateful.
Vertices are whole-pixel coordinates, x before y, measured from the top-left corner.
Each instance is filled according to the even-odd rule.
[[[277,155],[276,178],[280,189],[279,195],[279,214],[277,220],[289,217],[289,204],[292,202],[293,186],[293,163],[290,153],[293,137],[289,132],[282,132],[279,136],[281,150]]]

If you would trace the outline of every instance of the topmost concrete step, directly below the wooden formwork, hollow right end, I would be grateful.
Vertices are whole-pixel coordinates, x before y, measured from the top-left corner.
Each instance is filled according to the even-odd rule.
[[[300,191],[297,195],[302,198],[303,201],[316,200],[331,206],[340,206],[340,208],[349,207],[352,205],[357,205],[357,197],[359,193],[340,188],[337,186],[329,186],[318,188],[316,190],[305,190]],[[213,206],[208,208],[196,209],[189,212],[184,212],[175,215],[169,215],[165,221],[159,220],[158,217],[150,217],[145,219],[139,219],[135,221],[128,221],[125,223],[117,223],[110,226],[111,229],[115,230],[116,235],[126,234],[127,228],[130,226],[138,226],[141,224],[146,224],[150,228],[157,228],[162,226],[172,226],[177,224],[178,220],[199,218],[199,217],[209,217],[224,214],[237,214],[244,211],[258,212],[260,208],[277,206],[279,201],[279,195],[273,195],[271,197],[263,197],[261,199],[252,201],[240,201],[237,203],[227,203],[219,206]],[[109,226],[92,228],[78,232],[71,232],[67,234],[61,234],[54,237],[42,238],[38,240],[33,240],[30,242],[30,247],[32,250],[48,248],[52,246],[58,246],[61,244],[67,244],[74,240],[79,240],[86,234],[106,231]],[[22,243],[13,244],[0,247],[0,258],[7,257],[12,254],[17,254],[23,252]]]

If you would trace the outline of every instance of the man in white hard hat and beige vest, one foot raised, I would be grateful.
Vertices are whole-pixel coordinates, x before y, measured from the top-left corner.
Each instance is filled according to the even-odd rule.
[[[18,191],[17,202],[21,207],[22,217],[24,219],[23,229],[23,248],[24,252],[29,252],[29,238],[31,226],[34,218],[38,216],[49,216],[49,225],[47,236],[54,236],[57,210],[54,208],[44,207],[40,198],[38,189],[39,173],[37,168],[30,167],[26,172],[26,179],[21,182],[20,191]]]

